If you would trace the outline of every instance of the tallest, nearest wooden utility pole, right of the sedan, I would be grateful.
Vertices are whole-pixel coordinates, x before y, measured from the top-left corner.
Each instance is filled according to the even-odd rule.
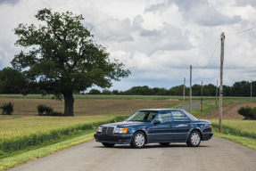
[[[221,52],[220,52],[220,81],[219,81],[219,133],[222,131],[222,96],[223,96],[223,61],[224,61],[224,40],[225,35],[222,32],[220,36]]]

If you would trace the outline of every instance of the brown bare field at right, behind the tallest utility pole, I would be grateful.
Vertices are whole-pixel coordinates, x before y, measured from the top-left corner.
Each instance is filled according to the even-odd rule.
[[[250,106],[256,107],[256,103],[232,103],[223,106],[222,108],[222,118],[223,119],[243,119],[244,117],[238,114],[237,110],[241,107]],[[207,116],[201,118],[219,118],[219,108],[211,111]]]

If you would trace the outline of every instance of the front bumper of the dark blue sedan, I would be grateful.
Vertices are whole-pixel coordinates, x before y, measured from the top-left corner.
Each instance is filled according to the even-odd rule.
[[[132,134],[95,134],[96,142],[131,143]]]

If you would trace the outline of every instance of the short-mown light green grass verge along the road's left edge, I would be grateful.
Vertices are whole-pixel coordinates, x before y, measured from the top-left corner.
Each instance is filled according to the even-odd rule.
[[[33,161],[38,158],[45,157],[56,151],[68,149],[71,146],[88,142],[93,139],[95,129],[89,129],[83,134],[76,134],[69,138],[59,140],[59,142],[46,143],[41,146],[29,148],[27,150],[15,151],[0,157],[0,171],[19,166],[21,164]]]

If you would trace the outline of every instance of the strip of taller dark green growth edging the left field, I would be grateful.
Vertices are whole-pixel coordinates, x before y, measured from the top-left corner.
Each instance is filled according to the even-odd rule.
[[[30,146],[42,144],[44,142],[54,142],[64,137],[73,134],[81,134],[87,129],[96,128],[98,125],[102,125],[110,122],[118,122],[124,120],[125,117],[117,117],[111,120],[99,121],[89,124],[80,124],[77,126],[70,126],[62,129],[55,129],[49,133],[29,134],[24,136],[18,136],[11,139],[0,139],[0,155],[6,152],[19,151]]]

